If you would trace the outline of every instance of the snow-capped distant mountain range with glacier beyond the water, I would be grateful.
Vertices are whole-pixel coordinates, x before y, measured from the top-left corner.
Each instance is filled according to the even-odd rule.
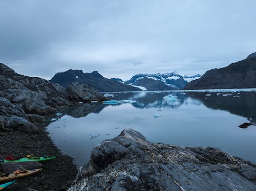
[[[125,84],[145,87],[147,90],[178,90],[201,75],[194,76],[180,75],[176,72],[164,74],[137,74]]]

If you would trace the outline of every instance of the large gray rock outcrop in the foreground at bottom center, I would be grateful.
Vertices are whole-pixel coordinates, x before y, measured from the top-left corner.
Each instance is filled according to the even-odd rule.
[[[68,190],[256,190],[256,165],[217,148],[151,144],[125,129],[92,150]]]

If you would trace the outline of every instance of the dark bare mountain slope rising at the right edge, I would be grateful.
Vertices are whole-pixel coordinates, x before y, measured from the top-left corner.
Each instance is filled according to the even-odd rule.
[[[256,55],[253,54],[227,67],[206,71],[184,89],[256,88]]]

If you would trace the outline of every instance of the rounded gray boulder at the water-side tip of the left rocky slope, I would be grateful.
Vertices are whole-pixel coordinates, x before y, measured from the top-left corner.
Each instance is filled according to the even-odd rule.
[[[105,97],[102,94],[84,83],[73,82],[68,86],[67,90],[75,93],[78,98],[84,102],[91,100],[105,100]]]

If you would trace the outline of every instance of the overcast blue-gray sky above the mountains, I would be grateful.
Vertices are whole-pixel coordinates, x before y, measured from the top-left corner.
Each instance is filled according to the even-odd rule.
[[[204,74],[256,52],[254,0],[0,1],[0,63],[51,79]]]

